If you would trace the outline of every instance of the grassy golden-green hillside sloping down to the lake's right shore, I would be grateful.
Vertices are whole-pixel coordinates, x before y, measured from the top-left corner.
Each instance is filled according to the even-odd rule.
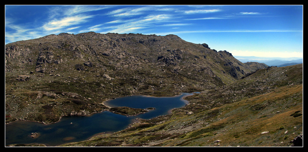
[[[303,131],[301,69],[302,64],[258,70],[221,90],[186,97],[188,106],[170,115],[61,146],[291,146]],[[269,76],[276,79],[256,83]]]

